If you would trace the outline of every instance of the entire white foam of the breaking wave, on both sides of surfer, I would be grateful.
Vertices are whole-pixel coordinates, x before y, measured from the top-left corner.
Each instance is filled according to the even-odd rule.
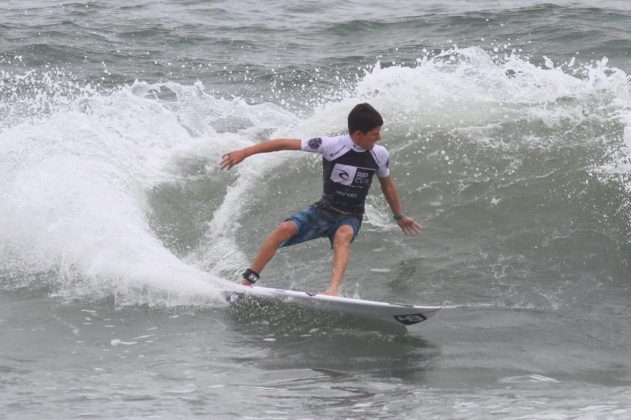
[[[264,188],[265,177],[287,159],[257,156],[227,175],[218,174],[221,155],[267,136],[342,132],[359,101],[380,109],[389,129],[418,135],[438,128],[475,132],[515,119],[551,125],[578,124],[586,114],[610,119],[624,124],[624,138],[610,145],[618,148],[615,160],[596,169],[631,169],[628,80],[604,59],[541,68],[514,54],[465,48],[423,57],[416,66],[377,64],[342,100],[304,119],[272,104],[217,98],[200,83],[137,82],[99,93],[51,80],[37,82],[52,84],[48,94],[15,91],[2,104],[11,118],[0,132],[1,268],[56,272],[57,290],[69,296],[114,294],[132,303],[214,296],[224,285],[217,275],[247,261],[235,240],[248,205],[243,197]],[[384,134],[395,151],[409,141]],[[209,159],[206,173],[229,185],[202,243],[182,260],[150,228],[147,193],[178,178],[178,159],[195,156]],[[370,207],[370,213],[373,228],[387,229],[387,210]]]

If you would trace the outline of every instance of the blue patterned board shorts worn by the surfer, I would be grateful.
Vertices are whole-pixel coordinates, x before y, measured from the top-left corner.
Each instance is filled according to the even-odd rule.
[[[311,239],[324,237],[329,238],[332,247],[335,232],[342,225],[349,225],[353,228],[353,240],[355,240],[357,234],[359,234],[359,229],[362,225],[361,219],[356,216],[341,214],[315,204],[285,220],[294,222],[298,227],[298,232],[280,244],[281,247],[296,245],[301,242],[310,241]]]

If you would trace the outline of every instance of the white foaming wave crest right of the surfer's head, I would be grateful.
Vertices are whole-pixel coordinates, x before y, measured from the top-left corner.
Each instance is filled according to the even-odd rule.
[[[513,53],[470,47],[426,56],[414,67],[377,63],[347,102],[371,98],[389,124],[429,131],[524,118],[579,122],[606,110],[615,115],[629,106],[628,89],[626,74],[608,67],[606,58],[593,66],[541,68]]]

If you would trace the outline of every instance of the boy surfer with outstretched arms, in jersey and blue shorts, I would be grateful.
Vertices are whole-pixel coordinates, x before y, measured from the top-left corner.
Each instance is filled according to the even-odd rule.
[[[349,134],[305,140],[268,140],[223,156],[221,169],[230,169],[248,156],[279,150],[302,150],[322,155],[322,198],[276,227],[261,245],[250,268],[243,273],[242,284],[254,284],[279,247],[328,237],[333,248],[333,267],[329,287],[321,294],[336,295],[348,265],[351,242],[361,227],[366,195],[375,174],[401,230],[406,235],[421,232],[421,226],[403,214],[388,168],[388,151],[376,144],[381,139],[382,125],[379,112],[363,103],[356,105],[348,114]]]

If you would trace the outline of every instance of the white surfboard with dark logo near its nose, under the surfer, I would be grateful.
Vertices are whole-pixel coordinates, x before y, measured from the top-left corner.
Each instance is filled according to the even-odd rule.
[[[281,302],[334,315],[351,316],[403,327],[419,324],[441,309],[440,306],[386,303],[260,286],[238,286],[237,290],[225,291],[224,296],[230,304],[243,303],[248,299]]]

